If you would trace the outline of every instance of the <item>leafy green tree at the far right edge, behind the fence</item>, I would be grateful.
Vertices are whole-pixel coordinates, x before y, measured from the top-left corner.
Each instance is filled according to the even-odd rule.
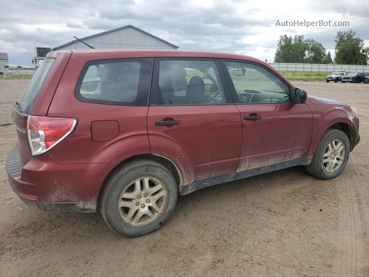
[[[335,64],[368,65],[369,49],[364,46],[360,37],[355,37],[356,32],[338,31],[334,42]]]

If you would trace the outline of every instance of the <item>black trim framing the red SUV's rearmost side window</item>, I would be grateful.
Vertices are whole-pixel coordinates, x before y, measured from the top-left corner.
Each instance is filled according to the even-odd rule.
[[[81,95],[80,93],[80,87],[82,85],[82,81],[83,78],[85,78],[85,74],[87,72],[87,69],[89,68],[90,65],[96,65],[96,64],[110,64],[110,63],[117,63],[117,62],[138,62],[138,60],[142,60],[142,59],[146,59],[147,61],[151,60],[151,67],[150,67],[150,77],[149,77],[149,85],[148,85],[148,91],[146,93],[146,97],[147,97],[147,101],[142,102],[144,104],[142,105],[137,105],[135,104],[135,101],[133,102],[121,102],[121,101],[109,101],[109,100],[99,100],[99,99],[93,99],[93,98],[85,98]],[[141,62],[140,62],[141,65]],[[100,104],[100,105],[114,105],[114,106],[128,106],[128,107],[148,107],[149,105],[149,96],[150,96],[150,88],[151,88],[151,80],[152,80],[152,69],[154,66],[154,58],[152,57],[142,57],[142,58],[116,58],[116,59],[98,59],[98,60],[92,60],[92,61],[88,61],[86,62],[86,64],[83,66],[82,71],[78,77],[77,83],[76,83],[76,87],[75,87],[75,92],[74,95],[77,98],[77,100],[81,101],[81,102],[85,102],[85,103],[93,103],[93,104]],[[140,68],[140,76],[139,76],[139,81],[141,79],[141,69],[142,66]],[[143,96],[143,98],[145,98],[145,96]],[[132,103],[132,105],[127,105],[128,103]]]

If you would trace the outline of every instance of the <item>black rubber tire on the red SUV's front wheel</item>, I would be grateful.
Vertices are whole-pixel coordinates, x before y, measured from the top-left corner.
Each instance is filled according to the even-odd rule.
[[[334,140],[339,140],[344,144],[344,156],[341,159],[341,164],[339,165],[339,167],[333,172],[328,172],[323,165],[323,154],[326,154],[325,150],[328,147],[328,144],[330,144],[331,141]],[[317,178],[323,180],[332,179],[337,177],[344,170],[349,155],[350,155],[350,142],[346,134],[337,129],[328,129],[324,133],[323,137],[321,138],[317,146],[317,149],[315,150],[313,160],[309,165],[306,165],[305,168],[310,175],[313,175]]]

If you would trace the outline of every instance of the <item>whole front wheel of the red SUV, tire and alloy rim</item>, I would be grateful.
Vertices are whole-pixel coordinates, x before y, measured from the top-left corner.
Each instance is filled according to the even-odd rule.
[[[350,142],[340,130],[328,129],[321,138],[313,160],[306,165],[310,175],[327,180],[337,177],[346,167]]]

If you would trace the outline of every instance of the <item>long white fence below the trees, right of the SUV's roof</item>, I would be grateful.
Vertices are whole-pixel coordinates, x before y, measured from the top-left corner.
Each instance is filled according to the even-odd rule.
[[[293,64],[282,62],[268,63],[278,71],[344,71],[369,72],[369,65],[339,65],[339,64]]]

